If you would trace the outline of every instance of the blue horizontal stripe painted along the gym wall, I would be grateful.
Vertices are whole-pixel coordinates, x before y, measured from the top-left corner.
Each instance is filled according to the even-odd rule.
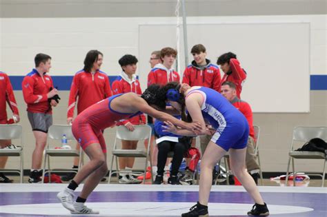
[[[9,76],[14,90],[21,90],[21,81],[24,76]],[[58,90],[70,90],[73,76],[51,76],[54,87]],[[109,76],[110,85],[117,76]],[[310,75],[310,90],[327,90],[327,74],[312,74]]]

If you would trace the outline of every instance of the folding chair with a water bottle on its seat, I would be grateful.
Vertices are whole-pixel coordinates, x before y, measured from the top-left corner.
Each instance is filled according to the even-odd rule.
[[[54,148],[51,143],[53,141],[57,141],[57,146],[61,146],[61,138],[63,134],[66,135],[67,141],[73,141],[75,140],[75,137],[72,135],[72,126],[71,125],[51,125],[48,130],[48,139],[47,139],[47,147],[44,150],[44,163],[43,163],[43,177],[42,182],[44,183],[44,176],[46,173],[49,174],[49,183],[50,183],[50,177],[51,172],[75,172],[75,170],[72,169],[50,169],[50,156],[52,157],[79,157],[79,169],[81,168],[81,165],[83,164],[83,150],[79,149],[77,151],[76,149],[56,149]],[[58,143],[58,141],[60,141]],[[48,161],[48,170],[46,171],[46,163]]]

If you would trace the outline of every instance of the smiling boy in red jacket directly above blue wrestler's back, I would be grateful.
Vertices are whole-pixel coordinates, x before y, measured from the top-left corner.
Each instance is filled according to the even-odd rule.
[[[191,54],[194,60],[184,70],[183,81],[181,83],[187,83],[191,87],[210,87],[220,92],[221,77],[219,68],[217,65],[210,63],[210,60],[206,59],[206,48],[204,45],[194,45]]]

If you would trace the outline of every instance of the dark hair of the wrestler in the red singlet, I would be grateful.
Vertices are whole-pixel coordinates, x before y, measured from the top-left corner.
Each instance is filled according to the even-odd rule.
[[[160,110],[164,110],[166,108],[166,101],[162,100],[164,96],[160,96],[162,92],[159,92],[160,85],[152,84],[144,90],[141,97],[149,104],[149,105],[156,105]]]

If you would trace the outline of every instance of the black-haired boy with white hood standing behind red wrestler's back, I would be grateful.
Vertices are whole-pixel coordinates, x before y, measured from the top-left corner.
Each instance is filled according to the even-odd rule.
[[[119,59],[119,65],[123,70],[112,83],[112,92],[114,95],[123,94],[128,92],[135,92],[135,94],[142,94],[139,80],[135,76],[137,70],[137,58],[130,54],[126,54]],[[124,125],[129,131],[134,131],[135,125],[146,124],[146,116],[139,114],[132,118],[120,121],[117,125]],[[121,140],[122,149],[136,149],[138,141],[126,141]],[[134,165],[135,158],[120,157],[119,158],[119,183],[121,184],[139,184],[142,181],[132,176],[132,167]]]

